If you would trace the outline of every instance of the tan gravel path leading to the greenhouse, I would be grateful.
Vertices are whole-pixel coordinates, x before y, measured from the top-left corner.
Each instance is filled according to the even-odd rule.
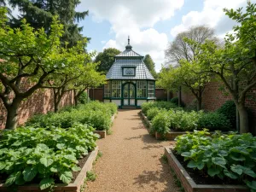
[[[102,158],[94,167],[97,178],[84,192],[177,192],[170,167],[161,159],[163,146],[148,135],[138,112],[119,110],[113,134],[98,140]]]

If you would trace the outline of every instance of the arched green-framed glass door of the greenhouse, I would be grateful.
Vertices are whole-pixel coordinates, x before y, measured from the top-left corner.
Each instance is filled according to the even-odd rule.
[[[128,83],[123,86],[124,106],[135,106],[135,85]]]

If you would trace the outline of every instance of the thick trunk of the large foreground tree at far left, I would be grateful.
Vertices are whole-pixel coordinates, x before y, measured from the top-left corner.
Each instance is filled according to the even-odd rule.
[[[5,124],[5,129],[15,130],[18,125],[18,109],[20,107],[20,102],[22,99],[14,99],[13,103],[6,108],[7,109],[7,119]]]

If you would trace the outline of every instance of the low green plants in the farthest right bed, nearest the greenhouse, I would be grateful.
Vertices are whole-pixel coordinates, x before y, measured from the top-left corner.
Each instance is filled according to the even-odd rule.
[[[172,102],[144,102],[142,104],[142,111],[145,115],[148,115],[149,108],[165,108],[169,110],[171,108],[177,108],[177,105]]]

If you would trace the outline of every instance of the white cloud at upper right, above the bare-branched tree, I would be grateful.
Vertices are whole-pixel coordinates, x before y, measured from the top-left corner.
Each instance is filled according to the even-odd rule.
[[[256,0],[253,0],[256,1]],[[253,1],[251,1],[253,3]],[[235,21],[230,20],[224,14],[223,9],[237,9],[245,7],[247,0],[205,0],[202,11],[190,11],[183,15],[182,23],[171,29],[173,37],[179,32],[189,29],[190,26],[206,25],[215,29],[219,37],[223,38],[226,32],[230,32]]]

